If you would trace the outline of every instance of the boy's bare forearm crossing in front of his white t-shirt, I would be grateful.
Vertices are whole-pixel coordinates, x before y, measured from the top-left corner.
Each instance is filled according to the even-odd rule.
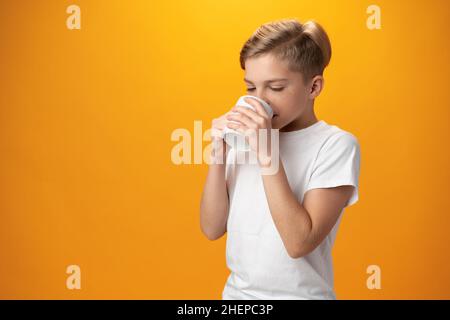
[[[262,175],[264,190],[275,226],[291,257],[308,253],[311,217],[292,192],[281,159],[277,173]]]

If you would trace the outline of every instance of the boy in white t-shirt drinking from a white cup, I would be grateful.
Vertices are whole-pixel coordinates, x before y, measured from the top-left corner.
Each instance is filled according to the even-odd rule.
[[[235,106],[212,122],[200,223],[211,240],[227,233],[223,299],[336,299],[331,248],[343,209],[358,200],[360,149],[351,133],[314,114],[330,58],[328,36],[312,21],[264,24],[241,50],[248,94],[275,116],[247,98],[255,110]],[[225,152],[225,126],[247,134],[256,164]],[[279,153],[261,153],[258,134],[248,135],[261,129],[279,130]],[[263,174],[272,157],[278,170]]]

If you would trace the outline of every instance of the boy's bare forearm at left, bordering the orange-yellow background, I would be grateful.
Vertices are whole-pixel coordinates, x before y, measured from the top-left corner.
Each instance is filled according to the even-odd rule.
[[[225,180],[225,156],[222,160],[221,163],[209,165],[200,204],[201,230],[211,240],[220,238],[226,232],[228,219],[229,200]]]

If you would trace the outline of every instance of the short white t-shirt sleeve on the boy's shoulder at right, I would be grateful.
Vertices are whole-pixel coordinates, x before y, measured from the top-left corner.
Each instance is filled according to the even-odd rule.
[[[359,168],[360,148],[356,137],[348,132],[335,134],[320,149],[305,193],[316,188],[352,185],[353,194],[346,204],[351,206],[358,201]]]

